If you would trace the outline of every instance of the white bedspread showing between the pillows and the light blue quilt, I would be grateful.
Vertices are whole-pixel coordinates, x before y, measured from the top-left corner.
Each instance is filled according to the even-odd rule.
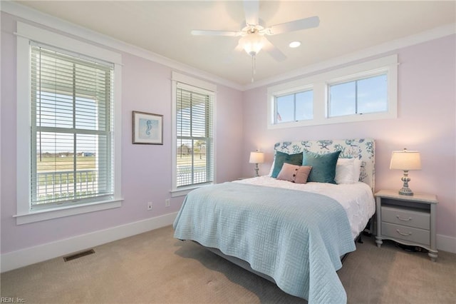
[[[246,178],[237,183],[249,183],[259,186],[288,188],[312,193],[320,193],[338,201],[345,209],[350,221],[353,239],[366,227],[369,218],[375,213],[375,199],[371,187],[366,183],[334,185],[332,183],[291,183],[279,181],[270,176]]]

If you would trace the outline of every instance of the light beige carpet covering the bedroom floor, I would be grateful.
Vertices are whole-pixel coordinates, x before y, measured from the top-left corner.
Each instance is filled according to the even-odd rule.
[[[168,226],[1,274],[2,299],[24,303],[306,303]],[[339,278],[348,303],[456,303],[456,255],[410,253],[373,237],[356,243]]]

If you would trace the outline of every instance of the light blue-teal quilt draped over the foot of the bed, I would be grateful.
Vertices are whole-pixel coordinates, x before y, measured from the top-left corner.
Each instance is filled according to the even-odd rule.
[[[191,191],[173,224],[195,240],[246,260],[309,303],[346,303],[336,270],[356,249],[346,211],[316,193],[242,183]]]

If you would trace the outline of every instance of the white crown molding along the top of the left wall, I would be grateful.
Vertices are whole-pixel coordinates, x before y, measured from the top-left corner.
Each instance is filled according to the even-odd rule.
[[[19,19],[22,19],[21,21],[24,23],[27,23],[28,21],[28,23],[33,22],[38,26],[46,26],[48,30],[56,31],[61,34],[69,34],[83,41],[88,41],[91,44],[97,44],[98,46],[104,46],[110,49],[115,49],[117,51],[123,51],[125,53],[138,56],[142,59],[147,59],[149,61],[154,61],[157,64],[168,66],[172,70],[191,74],[192,76],[202,78],[212,83],[218,83],[223,86],[234,88],[238,91],[242,91],[243,88],[238,83],[228,81],[227,79],[209,74],[187,64],[182,64],[179,61],[169,59],[165,56],[155,54],[138,46],[127,44],[123,41],[114,39],[104,34],[100,34],[96,31],[91,31],[90,29],[86,29],[82,26],[78,26],[63,19],[58,19],[55,16],[44,14],[41,11],[36,11],[35,9],[31,9],[27,6],[18,4],[13,1],[0,1],[0,10],[4,11],[7,14],[16,16]]]

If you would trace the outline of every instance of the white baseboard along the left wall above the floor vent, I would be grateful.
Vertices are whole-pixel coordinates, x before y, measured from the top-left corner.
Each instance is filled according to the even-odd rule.
[[[157,216],[156,218],[148,218],[143,221],[128,223],[105,230],[98,230],[93,233],[78,235],[73,238],[56,240],[55,242],[4,253],[1,255],[0,259],[0,272],[4,273],[5,271],[21,268],[26,265],[39,263],[51,258],[58,258],[59,256],[75,253],[114,240],[128,238],[132,235],[169,226],[173,223],[176,216],[177,213],[165,214],[164,216]]]

